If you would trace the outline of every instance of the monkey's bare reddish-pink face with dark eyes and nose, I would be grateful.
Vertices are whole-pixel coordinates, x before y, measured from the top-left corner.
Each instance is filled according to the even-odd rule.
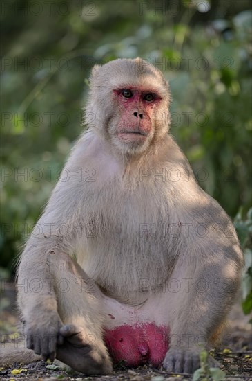
[[[117,137],[124,143],[144,143],[152,132],[153,112],[161,98],[151,88],[125,87],[113,93],[121,114]]]

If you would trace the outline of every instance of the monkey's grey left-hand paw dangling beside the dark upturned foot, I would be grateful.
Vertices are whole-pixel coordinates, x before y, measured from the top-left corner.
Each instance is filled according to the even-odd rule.
[[[27,348],[33,349],[45,361],[55,360],[56,346],[64,340],[59,333],[61,326],[62,322],[57,312],[41,311],[39,313],[36,310],[36,316],[31,314],[26,319],[23,328]]]

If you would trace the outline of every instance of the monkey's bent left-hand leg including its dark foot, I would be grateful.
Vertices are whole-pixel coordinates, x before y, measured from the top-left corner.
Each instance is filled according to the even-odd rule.
[[[102,339],[103,298],[99,287],[68,255],[51,254],[48,260],[64,324],[59,329],[56,358],[87,375],[110,373],[112,364]]]

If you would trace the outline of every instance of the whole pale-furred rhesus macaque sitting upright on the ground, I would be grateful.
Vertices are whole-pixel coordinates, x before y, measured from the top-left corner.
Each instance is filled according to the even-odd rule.
[[[192,373],[220,334],[242,252],[168,134],[169,102],[144,60],[93,68],[88,130],[19,265],[26,343],[43,359],[87,375],[121,360]]]

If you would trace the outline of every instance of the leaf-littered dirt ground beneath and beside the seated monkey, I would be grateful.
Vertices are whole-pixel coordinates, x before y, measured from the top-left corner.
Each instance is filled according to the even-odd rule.
[[[1,342],[10,341],[17,333],[17,310],[15,306],[14,285],[9,283],[1,293]],[[235,303],[230,314],[229,328],[224,335],[220,348],[213,351],[213,355],[221,364],[226,373],[226,380],[252,381],[252,326],[248,323],[249,317],[244,316],[240,303]],[[1,348],[0,348],[1,351]],[[54,364],[46,362],[32,362],[30,364],[14,363],[12,366],[0,368],[0,380],[9,381],[171,381],[192,380],[191,375],[166,373],[163,369],[153,369],[151,366],[141,366],[136,369],[126,369],[125,366],[115,366],[113,375],[87,377],[82,373],[67,373]]]

